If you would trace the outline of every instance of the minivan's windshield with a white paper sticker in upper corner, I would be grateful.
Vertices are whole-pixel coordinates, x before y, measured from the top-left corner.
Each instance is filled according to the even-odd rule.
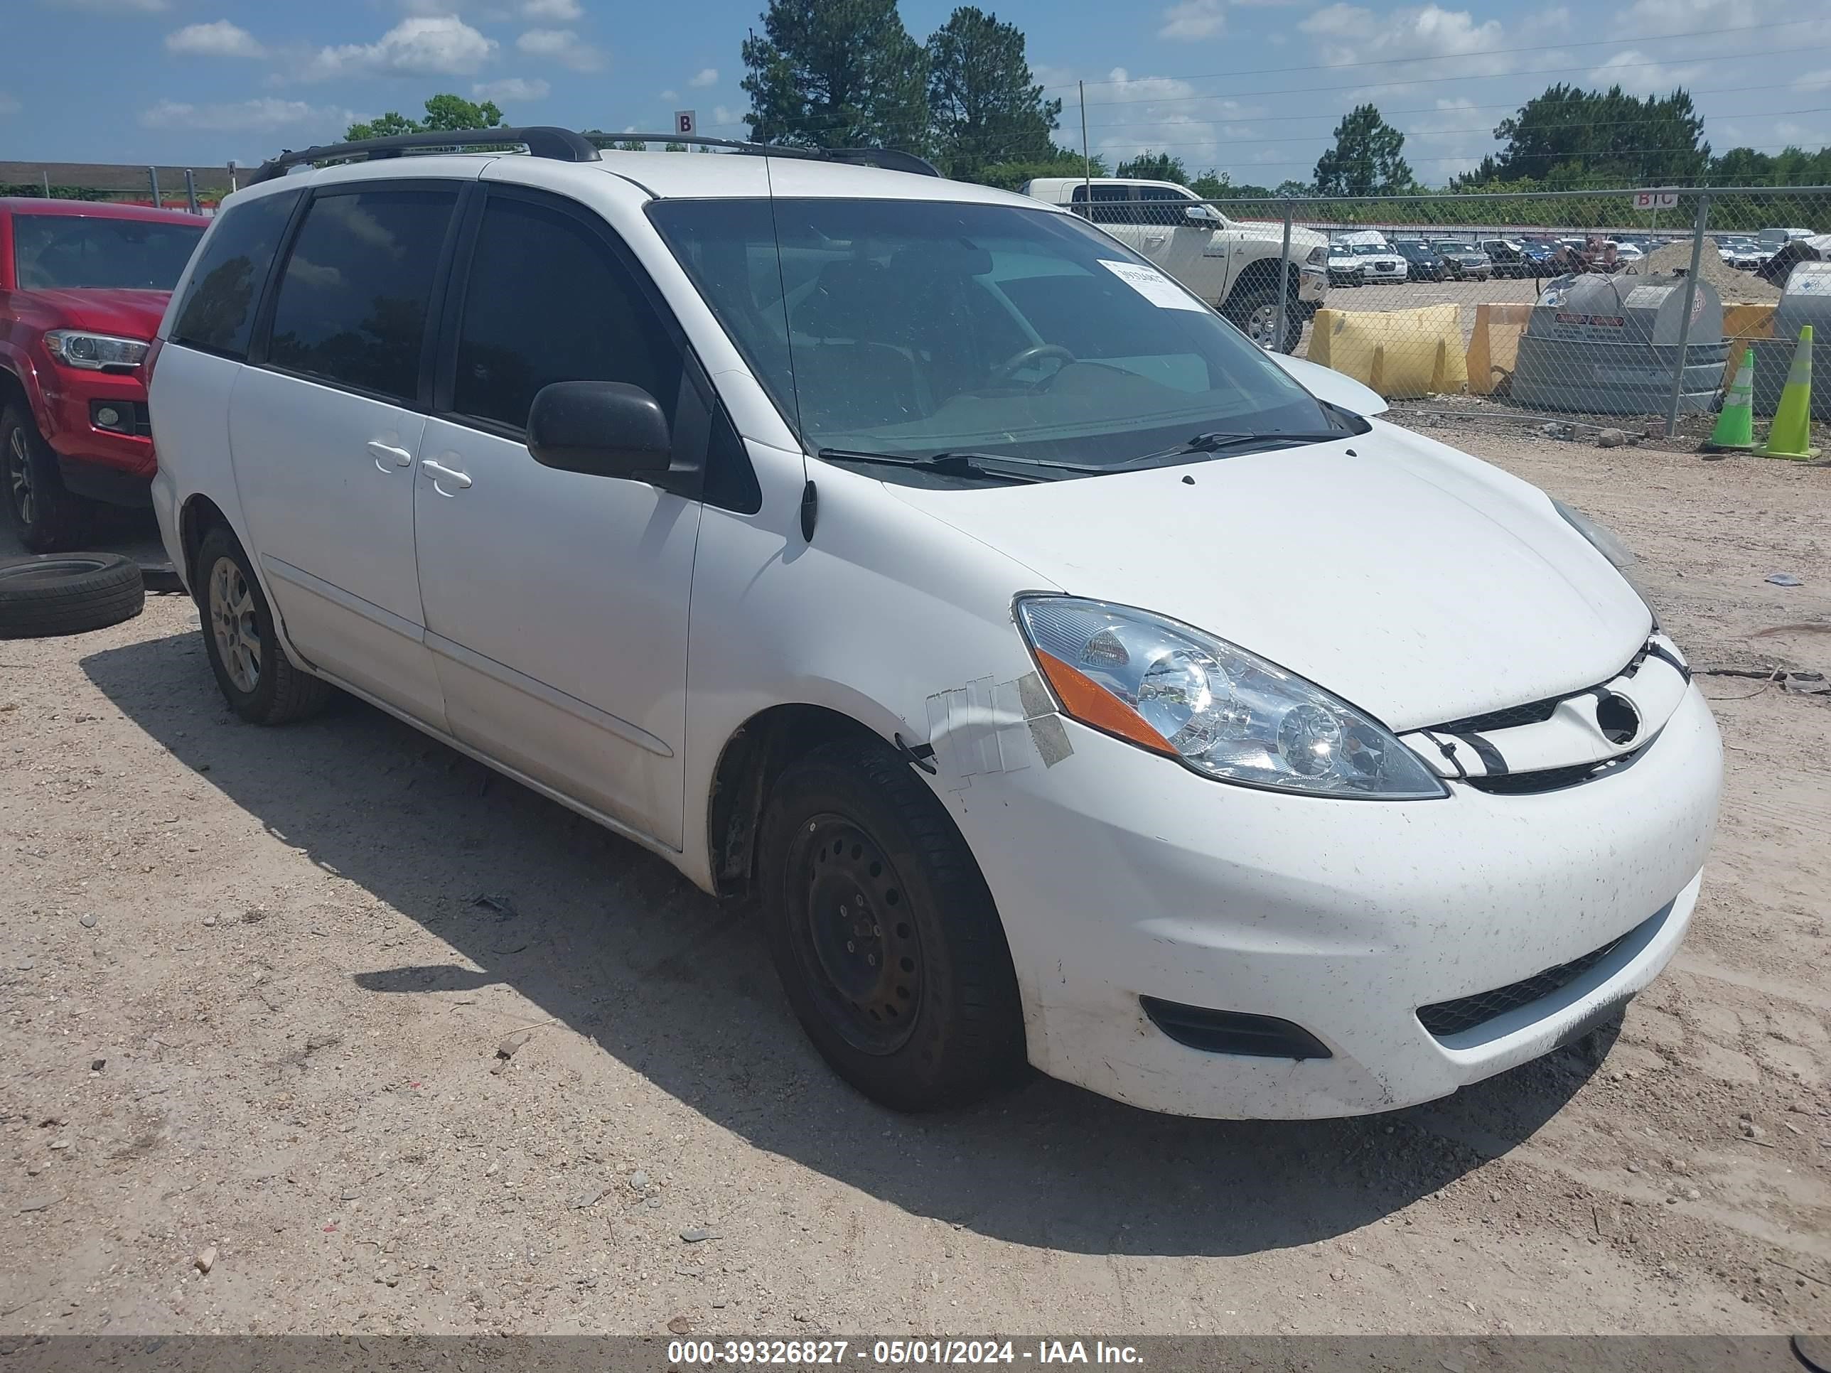
[[[919,200],[648,214],[813,450],[1104,470],[1196,436],[1342,430],[1245,335],[1069,214]]]

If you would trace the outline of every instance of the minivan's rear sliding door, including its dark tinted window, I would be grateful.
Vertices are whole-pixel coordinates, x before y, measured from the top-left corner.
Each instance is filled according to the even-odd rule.
[[[458,187],[313,196],[271,328],[229,401],[236,489],[287,637],[432,725],[439,683],[414,566],[421,361]]]

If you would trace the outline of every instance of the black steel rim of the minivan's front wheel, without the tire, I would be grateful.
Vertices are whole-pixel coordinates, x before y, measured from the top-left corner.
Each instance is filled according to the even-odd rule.
[[[789,855],[791,939],[828,1025],[859,1053],[894,1054],[916,1032],[925,967],[905,886],[842,815],[802,826]]]

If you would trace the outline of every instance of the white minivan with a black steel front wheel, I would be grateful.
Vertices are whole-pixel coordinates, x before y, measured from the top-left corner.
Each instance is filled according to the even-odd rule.
[[[897,1108],[1379,1111],[1672,957],[1721,752],[1608,533],[1067,211],[478,137],[269,163],[159,328],[240,716],[342,688],[753,899]]]

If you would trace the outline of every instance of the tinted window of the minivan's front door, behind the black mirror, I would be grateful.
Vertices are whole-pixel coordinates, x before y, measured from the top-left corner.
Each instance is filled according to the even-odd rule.
[[[681,353],[612,249],[557,209],[493,196],[458,328],[452,410],[525,428],[535,392],[555,381],[624,381],[670,421]]]

